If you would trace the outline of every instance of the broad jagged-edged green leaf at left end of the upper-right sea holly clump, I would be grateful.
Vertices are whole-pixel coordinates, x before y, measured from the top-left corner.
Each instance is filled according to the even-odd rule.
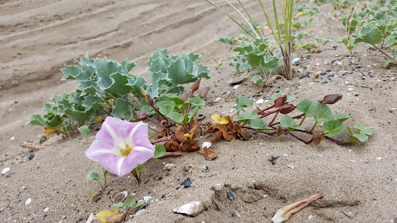
[[[364,26],[363,28],[357,30],[352,35],[353,44],[357,43],[368,43],[371,45],[379,44],[383,41],[382,32],[378,27],[374,26]]]

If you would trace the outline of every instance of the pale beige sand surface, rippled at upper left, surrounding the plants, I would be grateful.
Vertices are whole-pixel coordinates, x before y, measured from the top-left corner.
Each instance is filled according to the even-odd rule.
[[[249,8],[253,5],[255,1]],[[1,1],[0,169],[11,170],[0,176],[0,221],[85,222],[91,213],[109,209],[112,194],[126,190],[136,199],[152,197],[145,211],[129,218],[129,223],[270,222],[277,209],[316,193],[324,194],[323,201],[359,203],[324,208],[310,205],[289,222],[396,223],[396,66],[379,68],[374,61],[380,59],[379,53],[364,52],[361,47],[349,56],[336,43],[344,36],[344,29],[333,16],[333,9],[330,5],[319,9],[308,40],[320,35],[330,37],[332,43],[320,54],[298,50],[293,56],[310,55],[308,62],[297,69],[301,71],[299,75],[308,73],[311,77],[278,80],[267,88],[246,81],[234,90],[227,84],[235,75],[227,65],[233,55],[228,46],[216,39],[237,35],[239,29],[204,1]],[[342,100],[331,105],[332,111],[351,114],[349,124],[362,122],[372,127],[374,134],[364,144],[348,146],[326,140],[319,146],[306,145],[291,136],[265,134],[252,134],[249,141],[217,141],[211,147],[218,153],[214,161],[206,161],[197,152],[149,160],[142,173],[146,183],[140,185],[133,176],[109,176],[108,187],[96,202],[90,196],[98,184],[85,177],[90,171],[100,171],[100,166],[84,156],[89,144],[80,136],[54,137],[40,151],[19,146],[29,140],[38,143],[42,129],[24,125],[29,116],[42,113],[43,103],[52,94],[75,88],[73,81],[59,81],[59,69],[64,64],[71,64],[86,53],[114,60],[127,57],[139,64],[132,71],[145,75],[145,62],[157,48],[167,48],[175,54],[202,53],[200,61],[209,66],[212,77],[202,82],[211,86],[206,98],[208,106],[200,111],[205,115],[204,121],[209,121],[215,112],[234,113],[231,110],[235,99],[227,98],[228,92],[256,102],[281,91],[296,97],[296,103],[305,98],[319,100],[326,94],[341,94]],[[211,56],[223,65],[217,68]],[[332,60],[336,61],[331,63]],[[313,79],[327,69],[331,69],[327,75]],[[334,76],[328,77],[330,74]],[[224,100],[212,104],[218,97]],[[268,105],[254,103],[258,108]],[[91,133],[89,142],[95,133]],[[199,143],[210,137],[200,138]],[[34,157],[29,160],[32,154]],[[280,157],[274,165],[268,161],[271,156]],[[175,167],[164,170],[163,163]],[[187,177],[192,179],[191,187],[180,187]],[[235,200],[229,200],[227,192],[233,193]],[[32,202],[25,205],[28,198]],[[204,211],[197,217],[173,213],[175,207],[190,201],[202,201]],[[343,208],[357,213],[349,218],[342,213]]]

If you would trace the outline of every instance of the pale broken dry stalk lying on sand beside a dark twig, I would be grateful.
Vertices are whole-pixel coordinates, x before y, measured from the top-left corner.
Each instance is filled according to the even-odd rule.
[[[302,208],[308,206],[310,203],[315,202],[317,199],[322,198],[323,194],[315,194],[305,200],[287,205],[277,210],[276,214],[271,219],[272,223],[282,223],[288,221],[292,214],[297,213]]]

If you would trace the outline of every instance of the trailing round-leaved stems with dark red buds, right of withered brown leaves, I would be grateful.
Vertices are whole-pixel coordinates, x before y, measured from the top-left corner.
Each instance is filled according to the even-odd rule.
[[[214,114],[212,118],[215,124],[207,127],[204,133],[214,133],[211,142],[217,139],[230,141],[232,138],[247,140],[250,138],[250,134],[244,129],[253,129],[255,133],[265,133],[268,135],[281,136],[283,134],[289,134],[306,144],[313,142],[316,145],[323,139],[331,140],[337,144],[367,141],[368,136],[372,135],[371,128],[357,123],[354,125],[356,131],[353,131],[349,126],[344,124],[345,121],[351,117],[349,114],[333,114],[331,111],[329,105],[336,103],[341,98],[341,95],[331,94],[326,95],[318,102],[304,99],[298,103],[297,106],[294,106],[292,104],[295,100],[294,97],[277,93],[270,97],[270,100],[273,101],[271,106],[260,111],[253,111],[250,110],[253,105],[252,101],[247,97],[240,97],[236,100],[236,116],[232,118],[230,116],[219,116]],[[295,110],[302,113],[290,116],[289,113]],[[280,114],[282,116],[279,118],[279,121],[276,122]],[[272,118],[265,122],[265,117],[270,115],[272,115]],[[309,117],[314,120],[312,124],[307,121]],[[298,118],[301,118],[300,122],[296,122]],[[318,127],[320,123],[321,127]],[[346,133],[346,137],[340,136],[345,132],[346,128],[350,133]],[[303,138],[302,136],[305,134],[310,135],[311,138]],[[342,140],[340,138],[342,138]],[[343,138],[349,138],[350,140],[343,140]]]

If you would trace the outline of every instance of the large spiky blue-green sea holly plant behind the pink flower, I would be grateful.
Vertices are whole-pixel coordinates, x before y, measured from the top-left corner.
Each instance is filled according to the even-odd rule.
[[[206,66],[197,64],[199,55],[189,53],[169,55],[167,50],[157,50],[147,62],[151,84],[145,78],[132,74],[136,65],[107,58],[83,56],[77,65],[65,65],[62,80],[76,80],[72,93],[55,95],[46,103],[44,115],[35,114],[28,124],[43,126],[48,135],[77,132],[77,128],[90,125],[98,115],[111,115],[125,120],[136,119],[133,111],[149,110],[141,89],[155,101],[167,93],[180,94],[182,84],[209,78]]]

